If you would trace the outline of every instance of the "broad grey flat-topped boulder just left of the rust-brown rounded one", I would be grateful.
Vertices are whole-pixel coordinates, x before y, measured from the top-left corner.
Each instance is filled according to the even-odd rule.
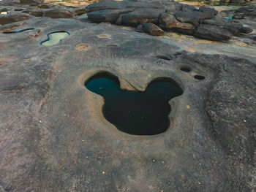
[[[127,26],[138,26],[141,23],[158,24],[159,15],[163,12],[165,12],[165,9],[138,8],[133,12],[120,15],[116,24]]]

